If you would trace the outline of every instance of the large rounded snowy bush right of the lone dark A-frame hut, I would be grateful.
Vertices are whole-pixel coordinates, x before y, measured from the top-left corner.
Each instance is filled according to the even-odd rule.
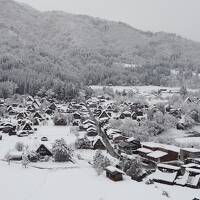
[[[66,144],[63,138],[55,141],[52,153],[56,162],[72,161],[73,150]]]

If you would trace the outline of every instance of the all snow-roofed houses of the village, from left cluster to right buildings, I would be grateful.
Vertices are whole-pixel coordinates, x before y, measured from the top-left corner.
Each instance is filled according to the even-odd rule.
[[[6,108],[9,117],[16,119],[16,124],[5,121],[0,124],[0,131],[9,135],[32,134],[35,131],[34,125],[45,123],[55,113],[71,114],[71,125],[77,127],[80,133],[84,133],[78,136],[75,144],[77,148],[105,150],[107,149],[106,138],[120,158],[139,157],[144,167],[156,169],[152,174],[152,179],[155,181],[200,187],[200,149],[140,142],[133,137],[125,137],[120,130],[109,128],[110,119],[132,119],[139,124],[141,120],[147,118],[150,108],[146,104],[132,102],[116,104],[105,96],[92,97],[86,102],[73,100],[70,103],[61,104],[53,99],[28,96],[20,103],[8,104],[1,101],[0,106]],[[156,106],[154,109],[156,112]],[[180,109],[170,106],[166,106],[165,109],[169,114],[181,119]],[[35,151],[42,157],[52,156],[50,148],[44,144],[38,146]],[[108,178],[118,181],[122,180],[123,172],[116,167],[108,167],[106,174]]]

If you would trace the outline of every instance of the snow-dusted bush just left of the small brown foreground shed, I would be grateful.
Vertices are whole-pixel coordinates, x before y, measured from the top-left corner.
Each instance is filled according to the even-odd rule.
[[[110,165],[110,160],[98,150],[93,158],[93,167],[98,175],[101,175],[105,168]]]

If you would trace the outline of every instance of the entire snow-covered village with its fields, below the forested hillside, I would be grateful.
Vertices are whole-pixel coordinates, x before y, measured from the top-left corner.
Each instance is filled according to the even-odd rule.
[[[180,92],[93,86],[70,102],[1,99],[1,195],[198,199],[199,93]]]

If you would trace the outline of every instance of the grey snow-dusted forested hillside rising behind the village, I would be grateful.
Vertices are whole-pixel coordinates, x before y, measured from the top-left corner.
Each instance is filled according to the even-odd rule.
[[[183,79],[195,87],[199,70],[200,43],[0,0],[3,96],[16,91],[70,98],[80,84],[178,85]]]

